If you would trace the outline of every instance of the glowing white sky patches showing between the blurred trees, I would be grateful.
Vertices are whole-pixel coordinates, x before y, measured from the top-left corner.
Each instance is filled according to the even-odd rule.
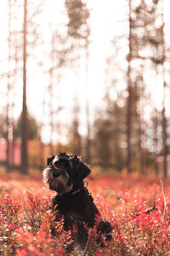
[[[90,36],[90,55],[89,55],[89,67],[88,67],[88,100],[90,104],[90,116],[91,122],[94,119],[95,108],[99,106],[102,97],[105,93],[106,81],[108,78],[105,75],[105,71],[107,68],[107,58],[111,55],[111,52],[114,53],[114,49],[111,48],[111,39],[116,37],[117,35],[122,35],[123,33],[127,33],[127,29],[124,26],[122,20],[127,19],[127,1],[120,0],[118,2],[107,0],[107,1],[88,1],[88,7],[92,10],[91,17],[89,20],[92,34]],[[165,20],[166,20],[166,31],[170,30],[170,18],[169,18],[169,8],[170,2],[168,0],[165,1]],[[1,59],[6,58],[8,52],[7,44],[3,44],[4,40],[8,37],[8,4],[7,1],[2,0],[0,2],[0,15],[1,15],[1,39],[0,39],[0,56]],[[22,17],[22,13],[14,14],[18,16],[18,19],[15,20],[13,26],[20,26],[20,17]],[[44,3],[42,6],[42,17],[38,16],[37,22],[41,24],[41,33],[42,38],[50,44],[51,31],[49,29],[49,23],[53,22],[53,26],[59,26],[60,23],[65,23],[67,20],[65,18],[64,12],[64,1],[48,1]],[[168,36],[168,33],[167,33]],[[31,38],[28,38],[31,41]],[[167,38],[169,40],[169,38]],[[121,41],[120,41],[121,42]],[[35,47],[35,49],[29,49],[29,54],[32,52],[37,56],[37,60],[33,60],[32,58],[28,58],[27,68],[28,68],[28,84],[27,84],[27,103],[28,108],[33,115],[41,122],[42,120],[42,97],[43,97],[43,88],[44,85],[48,84],[48,76],[46,74],[48,69],[48,59],[46,58],[46,52],[48,51],[48,47],[50,45],[41,44],[41,42]],[[125,55],[127,52],[126,47],[127,42],[122,41],[122,55]],[[146,53],[144,53],[146,54]],[[116,53],[115,53],[116,55]],[[44,60],[44,63],[38,63],[38,59],[40,56]],[[117,55],[117,58],[122,60],[122,56]],[[43,65],[42,65],[43,64]],[[3,66],[2,66],[3,65]],[[71,109],[74,105],[74,96],[77,94],[78,101],[81,103],[81,132],[82,134],[86,133],[86,102],[87,102],[87,80],[85,78],[85,62],[82,60],[82,71],[77,75],[77,70],[65,71],[63,73],[62,78],[55,81],[56,88],[55,94],[57,96],[59,91],[60,98],[57,99],[58,103],[61,106],[65,106],[65,116],[60,117],[63,119],[65,124],[68,124],[70,118],[67,118],[71,115]],[[122,64],[126,65],[126,64]],[[135,64],[134,64],[135,65]],[[2,67],[3,73],[7,70],[7,66],[5,67],[4,63],[0,63],[0,67]],[[113,67],[114,73],[114,67]],[[14,101],[16,102],[14,118],[16,119],[21,111],[21,99],[22,99],[22,73],[20,73],[20,77],[17,81],[17,89],[14,93]],[[147,76],[146,76],[147,77]],[[121,88],[125,88],[126,84],[121,77],[121,73],[119,75],[117,71],[117,78],[119,79],[118,84],[120,84]],[[153,102],[156,104],[156,108],[161,108],[162,102],[162,90],[161,86],[157,86],[157,84],[161,84],[162,81],[156,81],[154,79],[154,74],[151,75],[150,81],[146,79],[146,84],[149,82],[150,91],[148,93],[152,93]],[[0,88],[0,93],[3,95],[6,87],[5,79],[3,79],[3,83]],[[115,97],[114,92],[112,93],[113,97]],[[167,100],[168,102],[168,100]],[[5,99],[2,97],[0,102],[0,108],[5,106]],[[170,113],[170,109],[168,109]],[[63,113],[64,114],[64,113]]]

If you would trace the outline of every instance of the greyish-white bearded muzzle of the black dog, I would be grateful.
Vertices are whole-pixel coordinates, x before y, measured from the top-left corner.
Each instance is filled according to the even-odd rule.
[[[73,185],[68,185],[69,175],[67,173],[54,178],[52,170],[50,168],[46,168],[42,174],[43,182],[48,185],[49,189],[54,190],[59,194],[64,194],[71,191]]]

